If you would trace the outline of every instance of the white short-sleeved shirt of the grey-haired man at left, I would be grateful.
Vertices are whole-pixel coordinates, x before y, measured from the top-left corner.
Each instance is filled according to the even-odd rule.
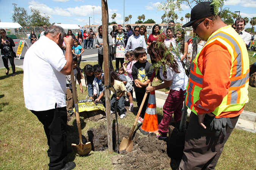
[[[23,89],[29,110],[46,111],[66,106],[66,76],[60,71],[67,60],[57,43],[40,37],[24,57]]]

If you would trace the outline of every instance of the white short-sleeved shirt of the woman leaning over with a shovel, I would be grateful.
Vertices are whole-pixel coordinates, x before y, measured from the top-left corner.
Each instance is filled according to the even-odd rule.
[[[179,71],[180,73],[175,73],[172,68],[167,67],[166,69],[166,77],[163,77],[163,70],[162,67],[160,68],[160,77],[162,80],[173,80],[170,86],[170,89],[179,91],[182,89],[183,91],[186,90],[187,84],[188,84],[188,77],[185,74],[184,68],[179,65]]]

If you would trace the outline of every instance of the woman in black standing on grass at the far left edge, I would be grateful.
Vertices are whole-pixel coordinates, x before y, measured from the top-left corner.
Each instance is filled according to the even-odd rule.
[[[0,29],[0,35],[1,35],[1,43],[0,43],[0,49],[3,59],[3,65],[7,69],[5,72],[6,75],[9,74],[9,66],[8,66],[8,59],[11,63],[11,68],[13,70],[13,76],[15,76],[15,65],[14,65],[14,57],[16,57],[16,54],[13,51],[13,47],[15,46],[13,39],[11,37],[6,36],[6,31],[4,29]]]

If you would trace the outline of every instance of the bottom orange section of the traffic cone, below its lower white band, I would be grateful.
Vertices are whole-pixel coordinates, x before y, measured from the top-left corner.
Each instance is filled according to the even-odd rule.
[[[158,131],[157,114],[145,113],[141,129],[148,132]]]

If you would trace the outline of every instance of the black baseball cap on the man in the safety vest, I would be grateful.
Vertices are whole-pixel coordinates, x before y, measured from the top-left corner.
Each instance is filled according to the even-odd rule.
[[[205,18],[207,16],[213,15],[214,14],[214,6],[210,5],[212,2],[201,2],[198,5],[194,6],[191,10],[190,14],[190,22],[182,25],[182,27],[188,27],[192,26],[193,22],[196,20]]]

